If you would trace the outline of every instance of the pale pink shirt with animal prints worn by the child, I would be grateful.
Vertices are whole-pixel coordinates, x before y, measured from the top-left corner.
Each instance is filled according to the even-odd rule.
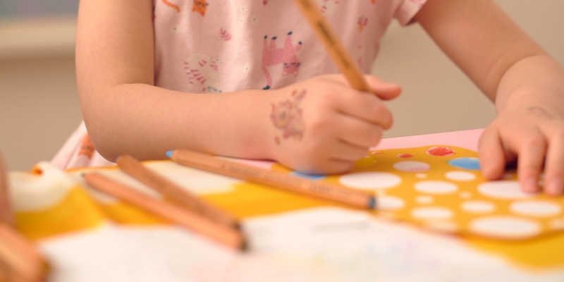
[[[345,48],[369,73],[393,18],[411,22],[426,0],[317,0]],[[291,0],[153,0],[155,84],[182,92],[271,89],[336,64]],[[266,94],[266,93],[265,93]],[[111,164],[82,123],[53,160],[63,168]]]

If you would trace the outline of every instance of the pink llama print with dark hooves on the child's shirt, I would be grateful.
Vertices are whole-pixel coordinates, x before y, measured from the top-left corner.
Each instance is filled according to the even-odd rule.
[[[272,77],[267,67],[282,64],[282,76],[298,75],[300,69],[300,61],[296,56],[296,52],[302,49],[302,42],[298,42],[294,46],[292,42],[292,32],[288,32],[284,46],[276,48],[276,36],[268,40],[268,36],[264,35],[264,43],[262,46],[262,71],[266,77],[266,86],[263,90],[269,90],[272,85]]]

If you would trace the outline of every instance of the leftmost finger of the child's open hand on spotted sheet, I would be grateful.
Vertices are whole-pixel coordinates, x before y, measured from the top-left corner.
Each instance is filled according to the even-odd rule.
[[[487,180],[495,180],[501,177],[505,169],[505,152],[498,131],[486,128],[479,139],[478,152],[482,175]]]

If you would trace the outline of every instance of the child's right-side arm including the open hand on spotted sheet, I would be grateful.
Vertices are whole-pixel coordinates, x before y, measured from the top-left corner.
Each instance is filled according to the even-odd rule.
[[[527,192],[564,190],[564,68],[491,0],[429,0],[417,21],[496,102],[479,144],[484,176],[499,178],[517,159]],[[517,158],[518,157],[518,158]]]

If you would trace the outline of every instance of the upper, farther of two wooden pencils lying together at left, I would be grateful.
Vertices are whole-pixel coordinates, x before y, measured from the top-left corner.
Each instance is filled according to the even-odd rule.
[[[133,178],[150,188],[157,190],[179,207],[197,212],[221,225],[236,229],[240,228],[238,220],[235,219],[233,215],[205,202],[200,197],[176,185],[176,183],[173,183],[171,180],[152,171],[134,157],[124,155],[119,157],[116,162],[122,171],[133,176]]]

